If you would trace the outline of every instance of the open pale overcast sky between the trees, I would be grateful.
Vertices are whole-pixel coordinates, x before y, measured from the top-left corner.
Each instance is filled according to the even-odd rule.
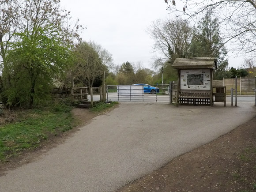
[[[146,30],[156,19],[169,17],[164,0],[61,0],[61,4],[87,27],[83,40],[102,45],[112,53],[115,64],[140,61],[151,68],[153,40]],[[230,56],[229,67],[237,68],[241,61]]]

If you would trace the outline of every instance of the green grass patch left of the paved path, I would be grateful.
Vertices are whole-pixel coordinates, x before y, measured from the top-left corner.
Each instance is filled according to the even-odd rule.
[[[19,122],[0,127],[0,162],[24,149],[37,147],[50,134],[72,129],[71,106],[55,105],[51,108],[32,109],[19,118]]]

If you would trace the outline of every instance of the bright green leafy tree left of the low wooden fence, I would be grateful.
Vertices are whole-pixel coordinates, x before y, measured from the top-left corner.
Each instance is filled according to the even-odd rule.
[[[12,78],[11,87],[4,94],[9,105],[29,105],[31,108],[46,97],[52,77],[71,64],[68,47],[53,37],[47,37],[45,31],[37,30],[40,35],[33,38],[29,32],[19,34],[20,41],[13,43],[13,49],[8,52]]]

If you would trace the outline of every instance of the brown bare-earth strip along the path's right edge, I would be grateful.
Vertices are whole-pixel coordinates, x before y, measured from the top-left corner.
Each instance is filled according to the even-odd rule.
[[[255,192],[256,117],[118,192]]]

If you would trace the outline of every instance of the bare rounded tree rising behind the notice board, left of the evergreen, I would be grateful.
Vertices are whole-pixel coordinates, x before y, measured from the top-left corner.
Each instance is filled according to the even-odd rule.
[[[163,57],[157,58],[155,66],[162,60],[186,57],[193,34],[193,28],[182,19],[157,20],[148,27],[147,32],[154,39],[154,50],[160,51]]]

